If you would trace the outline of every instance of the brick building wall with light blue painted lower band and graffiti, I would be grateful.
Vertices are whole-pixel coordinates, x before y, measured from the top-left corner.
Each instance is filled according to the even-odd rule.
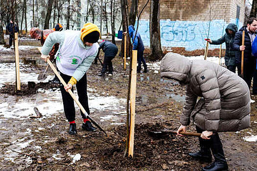
[[[139,12],[146,1],[139,0]],[[240,28],[244,19],[244,0],[161,0],[162,47],[183,51],[180,53],[187,53],[186,51],[194,53],[194,50],[204,49],[205,38],[218,39],[225,34],[225,28],[229,23],[236,23],[237,5],[240,7],[239,21],[237,21]],[[139,33],[146,46],[150,45],[149,10],[150,4],[144,9],[139,21]],[[216,52],[215,49],[219,49],[219,45],[210,45],[209,49],[209,54],[212,54],[211,49]]]

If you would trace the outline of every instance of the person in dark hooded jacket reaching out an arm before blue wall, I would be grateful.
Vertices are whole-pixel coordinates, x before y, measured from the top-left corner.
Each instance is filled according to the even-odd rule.
[[[233,49],[234,35],[237,32],[237,26],[234,23],[229,23],[225,29],[226,33],[222,38],[217,40],[205,39],[210,42],[210,44],[222,44],[226,43],[226,53],[225,53],[225,65],[227,69],[235,73],[235,51]]]

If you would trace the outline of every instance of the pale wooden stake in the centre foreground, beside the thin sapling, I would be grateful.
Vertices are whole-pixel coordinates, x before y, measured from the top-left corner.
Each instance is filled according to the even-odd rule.
[[[137,88],[137,50],[132,51],[132,71],[130,85],[130,133],[128,155],[133,157],[134,151],[134,131],[135,131],[135,115],[136,115],[136,88]]]

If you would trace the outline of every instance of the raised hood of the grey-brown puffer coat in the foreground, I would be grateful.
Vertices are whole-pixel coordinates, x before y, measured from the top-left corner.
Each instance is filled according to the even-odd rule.
[[[160,65],[161,77],[176,80],[181,84],[188,83],[190,69],[190,60],[180,54],[172,52],[164,56]]]

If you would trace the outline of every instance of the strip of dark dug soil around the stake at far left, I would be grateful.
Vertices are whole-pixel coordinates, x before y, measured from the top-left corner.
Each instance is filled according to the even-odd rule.
[[[9,95],[18,95],[18,96],[30,96],[37,93],[37,89],[53,89],[59,88],[58,84],[51,84],[51,83],[35,83],[35,82],[28,82],[28,84],[21,84],[21,90],[15,90],[16,85],[11,84],[4,84],[0,88],[0,93],[9,94]]]

